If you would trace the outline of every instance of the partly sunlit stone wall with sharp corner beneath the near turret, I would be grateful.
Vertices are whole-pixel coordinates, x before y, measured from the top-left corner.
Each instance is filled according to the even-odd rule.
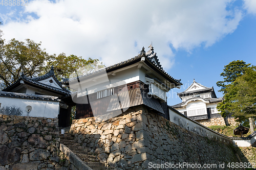
[[[219,165],[238,161],[228,145],[187,131],[142,106],[99,122],[102,119],[107,118],[73,120],[71,132],[85,150],[98,154],[100,161],[111,168],[150,169],[154,163]]]

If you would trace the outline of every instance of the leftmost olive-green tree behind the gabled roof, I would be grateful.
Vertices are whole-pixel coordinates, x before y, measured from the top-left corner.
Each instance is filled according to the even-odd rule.
[[[38,76],[54,56],[48,55],[40,48],[41,42],[35,43],[30,39],[26,42],[11,39],[0,49],[0,78],[1,87],[4,88],[15,82],[20,74],[25,76]]]

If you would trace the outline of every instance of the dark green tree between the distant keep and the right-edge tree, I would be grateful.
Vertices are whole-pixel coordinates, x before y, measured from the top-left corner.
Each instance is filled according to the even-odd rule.
[[[246,64],[243,60],[232,61],[224,66],[223,72],[220,74],[224,80],[216,83],[218,87],[221,87],[219,91],[224,94],[223,101],[217,105],[217,109],[221,111],[220,114],[223,117],[232,113],[230,112],[231,101],[237,93],[234,89],[232,91],[228,89],[232,89],[233,82],[236,81],[238,77],[242,76],[245,69],[249,66],[250,64]]]

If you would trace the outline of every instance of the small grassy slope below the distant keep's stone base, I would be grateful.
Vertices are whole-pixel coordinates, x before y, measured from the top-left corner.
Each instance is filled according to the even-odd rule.
[[[216,132],[219,132],[223,135],[229,136],[229,137],[241,137],[240,135],[233,134],[233,130],[237,127],[238,126],[210,126],[208,128],[210,128]],[[247,137],[248,135],[250,135],[249,132],[247,134],[243,135],[243,137]]]

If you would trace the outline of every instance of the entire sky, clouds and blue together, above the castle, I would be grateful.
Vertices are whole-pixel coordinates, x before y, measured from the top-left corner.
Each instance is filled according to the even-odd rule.
[[[214,86],[233,60],[256,65],[255,0],[26,1],[0,5],[6,41],[41,41],[49,54],[98,58],[106,66],[136,56],[153,43],[164,69],[182,79],[169,92],[168,104],[180,103],[176,92],[195,79]]]

